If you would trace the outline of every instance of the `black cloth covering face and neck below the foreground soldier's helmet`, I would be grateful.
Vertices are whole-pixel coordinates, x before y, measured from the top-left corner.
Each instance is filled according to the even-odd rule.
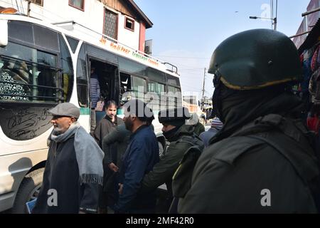
[[[223,128],[210,143],[227,138],[243,125],[268,114],[299,118],[302,103],[289,90],[289,85],[280,84],[256,90],[233,90],[223,83],[215,84],[213,105]]]

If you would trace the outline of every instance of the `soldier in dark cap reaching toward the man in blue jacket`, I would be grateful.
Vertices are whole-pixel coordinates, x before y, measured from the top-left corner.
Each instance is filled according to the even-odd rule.
[[[188,108],[181,107],[162,110],[159,112],[158,118],[159,122],[163,125],[162,132],[164,133],[164,137],[170,142],[170,145],[164,157],[159,163],[154,165],[153,170],[144,175],[141,190],[154,190],[156,187],[166,183],[169,190],[169,202],[171,202],[171,180],[183,155],[191,147],[202,152],[204,146],[201,139],[194,134],[195,126],[186,125],[186,120],[190,118]]]

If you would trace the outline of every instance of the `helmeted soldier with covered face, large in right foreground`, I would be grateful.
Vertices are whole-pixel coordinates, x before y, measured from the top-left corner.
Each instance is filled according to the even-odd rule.
[[[210,61],[223,128],[193,171],[180,213],[316,213],[319,167],[291,87],[302,76],[294,43],[255,29],[220,43]]]

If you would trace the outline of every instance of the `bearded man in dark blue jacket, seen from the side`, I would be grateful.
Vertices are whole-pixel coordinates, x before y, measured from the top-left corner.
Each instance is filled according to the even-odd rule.
[[[138,193],[144,175],[159,162],[158,141],[147,123],[153,115],[142,100],[130,100],[124,105],[124,124],[132,136],[120,170],[120,195],[114,205],[115,213],[155,212],[155,190],[144,195]]]

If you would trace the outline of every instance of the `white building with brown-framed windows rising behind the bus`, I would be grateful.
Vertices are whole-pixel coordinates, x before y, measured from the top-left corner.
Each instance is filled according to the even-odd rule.
[[[2,0],[0,7],[53,24],[63,22],[70,30],[76,29],[73,21],[142,52],[146,29],[153,25],[132,0]]]

